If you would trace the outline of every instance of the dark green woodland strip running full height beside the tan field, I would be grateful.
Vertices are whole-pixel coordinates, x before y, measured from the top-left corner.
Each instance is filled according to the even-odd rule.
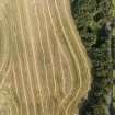
[[[80,108],[80,115],[111,114],[113,66],[115,67],[112,9],[112,0],[73,0],[71,2],[77,28],[93,65],[92,89]]]

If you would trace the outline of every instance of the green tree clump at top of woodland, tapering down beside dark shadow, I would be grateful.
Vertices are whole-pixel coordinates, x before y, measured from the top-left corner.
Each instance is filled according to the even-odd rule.
[[[87,47],[99,38],[97,32],[110,21],[110,0],[74,0],[71,3],[77,27]]]

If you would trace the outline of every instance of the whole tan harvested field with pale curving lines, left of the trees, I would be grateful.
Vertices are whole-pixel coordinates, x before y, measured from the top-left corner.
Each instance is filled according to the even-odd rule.
[[[0,113],[78,115],[90,61],[69,0],[0,0]]]

